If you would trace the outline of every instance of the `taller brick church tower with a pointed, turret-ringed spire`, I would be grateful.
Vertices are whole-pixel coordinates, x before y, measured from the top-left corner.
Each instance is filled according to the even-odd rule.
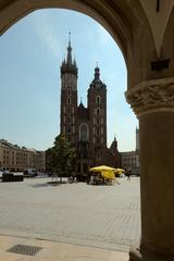
[[[74,145],[76,142],[76,112],[77,112],[77,74],[78,69],[72,59],[71,35],[66,59],[61,65],[61,134]]]

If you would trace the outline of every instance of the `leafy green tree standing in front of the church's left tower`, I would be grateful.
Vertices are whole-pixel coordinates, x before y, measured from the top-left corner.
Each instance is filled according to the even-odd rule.
[[[71,147],[63,134],[55,137],[53,147],[50,149],[50,167],[60,178],[70,176],[73,172],[76,159],[75,148]]]

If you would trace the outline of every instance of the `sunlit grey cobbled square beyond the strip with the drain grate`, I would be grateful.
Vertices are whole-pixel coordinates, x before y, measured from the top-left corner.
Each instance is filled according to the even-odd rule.
[[[121,185],[0,183],[0,234],[128,251],[139,240],[139,178]]]

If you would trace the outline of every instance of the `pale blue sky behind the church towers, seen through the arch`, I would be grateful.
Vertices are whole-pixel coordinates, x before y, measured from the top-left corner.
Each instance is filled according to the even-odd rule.
[[[107,85],[108,147],[114,136],[120,151],[135,150],[138,121],[124,92],[127,72],[111,35],[82,13],[45,9],[20,20],[0,37],[0,138],[46,150],[60,134],[60,66],[71,32],[78,67],[78,103],[86,105],[95,67]]]

